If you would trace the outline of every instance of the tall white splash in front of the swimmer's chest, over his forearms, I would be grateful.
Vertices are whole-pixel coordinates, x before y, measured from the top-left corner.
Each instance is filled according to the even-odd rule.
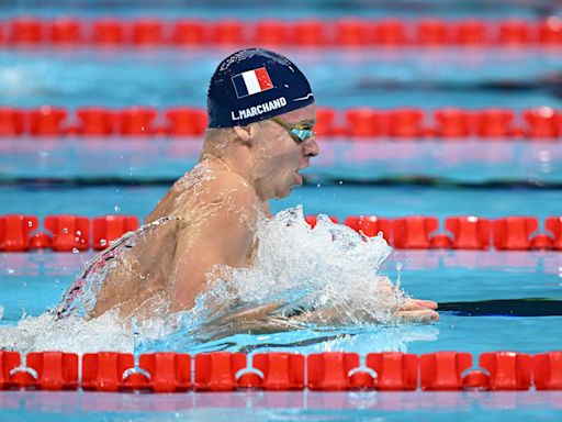
[[[391,252],[382,236],[362,236],[326,215],[311,229],[301,207],[289,209],[259,223],[251,268],[221,268],[227,276],[198,298],[191,318],[204,323],[278,303],[269,315],[303,309],[300,323],[391,323],[405,298],[379,274]]]

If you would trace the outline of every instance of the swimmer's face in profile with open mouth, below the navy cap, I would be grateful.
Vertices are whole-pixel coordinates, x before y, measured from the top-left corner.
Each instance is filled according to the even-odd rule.
[[[303,107],[278,116],[291,126],[313,129],[316,123],[316,104]],[[258,123],[255,133],[256,187],[262,199],[284,198],[291,188],[301,186],[300,171],[310,166],[311,157],[318,155],[314,136],[296,143],[285,127],[272,120]]]

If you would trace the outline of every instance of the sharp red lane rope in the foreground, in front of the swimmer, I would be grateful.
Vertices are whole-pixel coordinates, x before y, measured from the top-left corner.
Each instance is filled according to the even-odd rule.
[[[159,352],[139,356],[116,352],[78,355],[63,352],[30,353],[22,365],[16,352],[0,352],[0,390],[43,389],[94,391],[180,392],[261,390],[334,391],[376,389],[424,391],[480,389],[488,391],[562,390],[562,352],[535,356],[516,352],[486,352],[473,368],[465,352],[437,352],[420,356],[396,352],[370,353],[360,365],[357,353],[325,352],[304,356],[260,353],[247,367],[241,353],[213,352],[194,356]],[[419,374],[419,378],[418,378]],[[305,379],[306,376],[306,379]],[[81,381],[79,382],[79,379]]]

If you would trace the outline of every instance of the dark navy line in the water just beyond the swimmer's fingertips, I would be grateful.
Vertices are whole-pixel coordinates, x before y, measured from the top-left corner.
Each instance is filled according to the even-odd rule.
[[[546,298],[495,299],[473,302],[442,302],[440,312],[461,316],[562,316],[562,300]]]

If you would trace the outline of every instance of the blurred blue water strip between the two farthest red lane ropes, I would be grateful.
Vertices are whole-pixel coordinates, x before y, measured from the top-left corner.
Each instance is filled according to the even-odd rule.
[[[2,49],[0,104],[204,107],[209,75],[231,49]],[[312,75],[318,104],[337,109],[562,104],[555,48],[278,49]],[[333,77],[335,63],[346,77]]]

